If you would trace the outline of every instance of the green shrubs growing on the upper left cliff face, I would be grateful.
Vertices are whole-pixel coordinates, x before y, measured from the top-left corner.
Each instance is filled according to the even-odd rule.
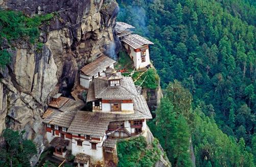
[[[21,12],[0,9],[0,45],[11,44],[18,39],[35,43],[40,34],[39,26],[42,22],[47,23],[53,16],[53,14],[46,14],[27,17]],[[1,48],[0,66],[6,66],[10,60],[11,54],[7,49]]]

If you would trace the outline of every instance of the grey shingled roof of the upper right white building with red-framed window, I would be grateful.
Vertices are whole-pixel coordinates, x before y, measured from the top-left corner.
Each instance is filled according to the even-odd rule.
[[[153,42],[151,42],[151,41],[147,40],[146,38],[139,36],[137,34],[128,35],[128,36],[124,37],[124,39],[122,39],[121,41],[128,44],[129,46],[131,46],[134,49],[140,48],[144,45],[154,44]]]

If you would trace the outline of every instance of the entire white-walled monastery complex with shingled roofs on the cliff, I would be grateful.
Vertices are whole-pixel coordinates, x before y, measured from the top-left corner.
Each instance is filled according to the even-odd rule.
[[[136,70],[150,65],[147,39],[132,34],[134,27],[117,22],[115,32]],[[101,54],[80,70],[80,85],[87,90],[86,104],[57,94],[43,115],[46,137],[54,156],[75,156],[77,166],[101,162],[117,164],[117,138],[143,135],[152,119],[145,98],[131,77],[114,70],[115,61]],[[84,106],[90,110],[84,111]]]

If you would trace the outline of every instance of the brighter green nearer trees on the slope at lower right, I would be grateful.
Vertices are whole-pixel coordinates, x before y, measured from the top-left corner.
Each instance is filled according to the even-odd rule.
[[[254,166],[255,141],[251,150],[245,146],[243,137],[237,142],[224,134],[213,118],[202,113],[200,106],[192,110],[192,96],[179,82],[170,83],[166,94],[149,127],[173,166],[192,166],[191,145],[196,166]]]

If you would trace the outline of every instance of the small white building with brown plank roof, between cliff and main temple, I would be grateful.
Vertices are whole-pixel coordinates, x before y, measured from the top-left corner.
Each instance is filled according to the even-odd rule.
[[[106,55],[101,55],[95,61],[85,65],[80,71],[80,85],[89,88],[90,81],[99,76],[106,76],[105,71],[114,68],[115,61]]]

